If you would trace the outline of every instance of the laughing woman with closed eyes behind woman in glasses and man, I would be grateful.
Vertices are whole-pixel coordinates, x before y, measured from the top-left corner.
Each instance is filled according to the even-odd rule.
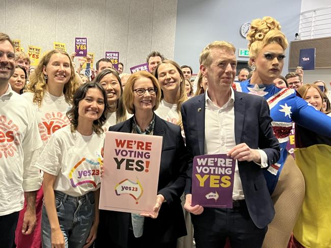
[[[180,66],[172,60],[164,60],[155,68],[154,76],[158,79],[162,91],[161,102],[155,114],[182,127],[180,108],[187,100],[187,95]]]

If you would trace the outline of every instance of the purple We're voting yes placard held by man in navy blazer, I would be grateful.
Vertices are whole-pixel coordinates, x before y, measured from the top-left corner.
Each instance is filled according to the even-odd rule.
[[[232,208],[235,160],[226,154],[195,156],[192,206]]]

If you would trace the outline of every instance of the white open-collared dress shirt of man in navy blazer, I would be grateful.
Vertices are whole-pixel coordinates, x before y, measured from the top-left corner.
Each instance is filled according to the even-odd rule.
[[[231,96],[222,107],[216,106],[208,96],[206,91],[205,100],[205,154],[226,154],[234,146],[238,145],[235,141],[234,127],[234,91],[231,89]],[[258,150],[261,155],[261,168],[268,166],[267,154]],[[236,160],[232,199],[242,200],[244,194],[240,180],[238,162]]]

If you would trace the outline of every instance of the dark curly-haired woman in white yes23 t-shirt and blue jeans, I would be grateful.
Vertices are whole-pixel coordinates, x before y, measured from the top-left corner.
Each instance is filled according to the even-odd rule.
[[[89,247],[96,238],[106,108],[99,84],[78,88],[71,124],[53,133],[37,161],[44,172],[44,248]]]

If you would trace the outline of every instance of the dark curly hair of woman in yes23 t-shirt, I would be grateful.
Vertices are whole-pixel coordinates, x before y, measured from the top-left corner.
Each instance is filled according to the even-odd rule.
[[[104,103],[104,109],[102,112],[102,115],[98,120],[93,121],[92,129],[95,133],[101,134],[103,132],[102,126],[106,121],[107,118],[107,108],[108,108],[108,101],[107,101],[107,94],[105,90],[95,82],[88,82],[84,85],[81,85],[77,91],[75,92],[73,96],[73,103],[72,107],[67,112],[67,117],[71,122],[71,132],[74,132],[77,129],[78,126],[78,104],[79,102],[85,98],[86,93],[89,89],[96,88],[99,89],[102,92],[103,95],[103,103]]]

